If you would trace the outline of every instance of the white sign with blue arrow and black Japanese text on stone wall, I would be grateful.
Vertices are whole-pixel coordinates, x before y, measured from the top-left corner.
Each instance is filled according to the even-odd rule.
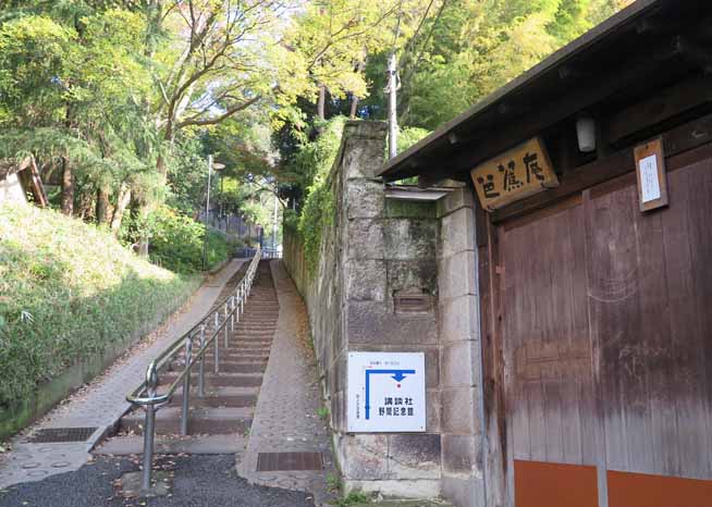
[[[348,353],[348,431],[426,431],[423,353]]]

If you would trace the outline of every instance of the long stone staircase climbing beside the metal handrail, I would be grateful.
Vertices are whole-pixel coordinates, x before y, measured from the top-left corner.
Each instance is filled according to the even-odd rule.
[[[247,264],[225,285],[218,300],[235,290]],[[270,273],[269,260],[260,261],[245,312],[229,334],[228,347],[220,341],[219,373],[214,373],[214,349],[205,356],[205,391],[197,392],[198,369],[191,375],[188,435],[181,436],[182,386],[171,401],[156,412],[156,453],[229,454],[244,449],[253,422],[255,406],[267,368],[279,316],[279,302]],[[197,350],[197,344],[194,344]],[[167,371],[160,372],[158,392],[164,391],[185,363],[176,356]],[[118,433],[98,447],[96,454],[128,455],[143,450],[145,412],[135,409],[120,421]]]

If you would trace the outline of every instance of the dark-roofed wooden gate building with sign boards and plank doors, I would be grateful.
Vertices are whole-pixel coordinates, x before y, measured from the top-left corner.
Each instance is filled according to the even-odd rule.
[[[488,506],[712,506],[712,2],[635,2],[380,175],[479,203]]]

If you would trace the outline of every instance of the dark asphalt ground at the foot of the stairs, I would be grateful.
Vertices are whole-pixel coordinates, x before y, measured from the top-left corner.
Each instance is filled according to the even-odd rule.
[[[171,496],[124,498],[122,473],[138,459],[96,458],[74,472],[0,490],[1,507],[314,507],[306,493],[249,484],[235,473],[233,455],[161,456],[155,469],[174,473]]]

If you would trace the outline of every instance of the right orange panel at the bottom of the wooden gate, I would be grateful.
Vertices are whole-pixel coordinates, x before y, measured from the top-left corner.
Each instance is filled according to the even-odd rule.
[[[607,472],[609,507],[712,507],[712,481]]]

